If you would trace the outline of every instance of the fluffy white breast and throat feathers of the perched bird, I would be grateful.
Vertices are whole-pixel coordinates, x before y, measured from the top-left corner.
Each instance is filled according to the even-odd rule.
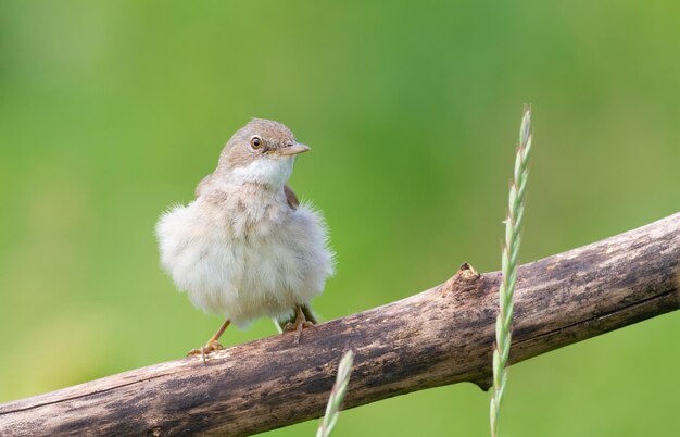
[[[252,163],[234,172],[234,184],[161,216],[162,265],[196,307],[244,325],[284,316],[323,291],[333,254],[322,216],[306,204],[290,208],[282,189],[243,185],[274,179],[282,186],[292,161]]]

